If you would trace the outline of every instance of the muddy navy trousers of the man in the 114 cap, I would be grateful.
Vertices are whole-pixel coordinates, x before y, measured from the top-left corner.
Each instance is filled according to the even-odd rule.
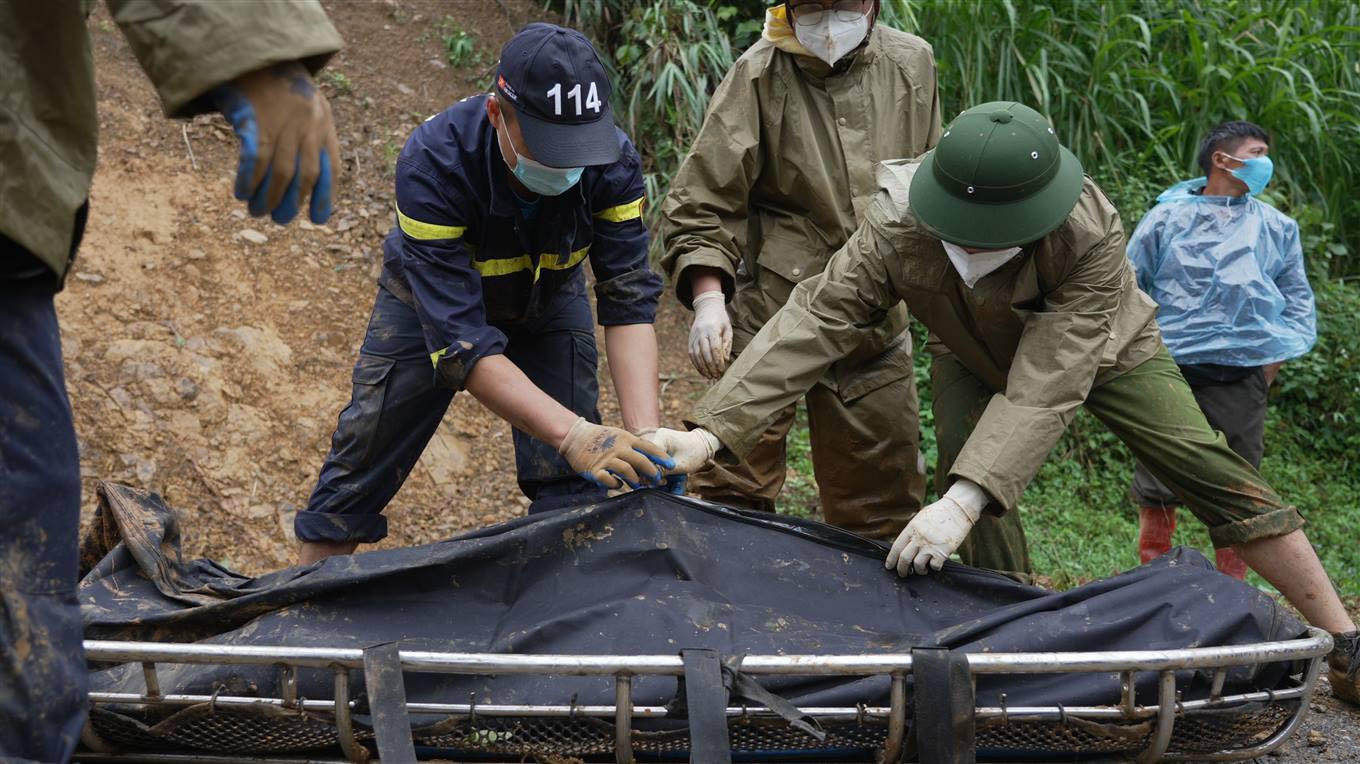
[[[581,280],[563,290],[541,317],[498,329],[509,340],[506,358],[539,389],[600,421],[594,321]],[[379,287],[354,366],[350,405],[340,412],[307,508],[294,521],[298,538],[373,542],[385,537],[388,521],[381,513],[420,458],[453,394],[434,383],[416,311]],[[518,430],[514,453],[530,514],[605,498],[556,449]]]

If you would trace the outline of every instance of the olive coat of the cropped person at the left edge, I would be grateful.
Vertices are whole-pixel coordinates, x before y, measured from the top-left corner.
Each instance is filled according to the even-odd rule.
[[[316,0],[107,0],[167,116],[254,69],[317,71],[341,39]],[[0,234],[63,276],[90,194],[98,116],[86,18],[94,0],[0,1]]]

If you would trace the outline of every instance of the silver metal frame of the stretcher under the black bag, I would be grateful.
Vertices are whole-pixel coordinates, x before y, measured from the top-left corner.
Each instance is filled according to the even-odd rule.
[[[340,735],[340,749],[347,761],[374,761],[367,748],[362,745],[354,730],[352,712],[356,699],[350,695],[350,672],[363,669],[363,651],[358,648],[324,647],[264,647],[264,646],[222,646],[194,643],[140,643],[87,640],[86,657],[95,662],[141,663],[146,678],[146,692],[91,692],[91,706],[147,706],[147,707],[188,707],[209,704],[211,708],[258,708],[273,706],[299,711],[324,711],[335,714],[335,725]],[[979,653],[968,654],[968,667],[974,677],[981,674],[1062,674],[1062,673],[1118,673],[1122,677],[1122,697],[1118,706],[1006,706],[1001,695],[1001,706],[978,707],[975,718],[1001,719],[1009,722],[1036,722],[1068,719],[1088,719],[1104,722],[1145,722],[1153,720],[1151,745],[1138,756],[1140,763],[1152,761],[1239,761],[1263,756],[1278,748],[1297,729],[1308,710],[1308,701],[1316,687],[1323,661],[1331,650],[1331,636],[1318,628],[1310,628],[1307,636],[1255,644],[1231,647],[1194,647],[1183,650],[1156,651],[1091,651],[1091,653]],[[1259,691],[1238,695],[1223,695],[1224,681],[1229,667],[1253,666],[1284,661],[1306,661],[1303,678],[1295,687],[1280,691]],[[615,759],[619,763],[634,761],[632,720],[661,718],[666,708],[660,706],[632,704],[632,677],[638,676],[683,676],[684,665],[677,655],[506,655],[479,653],[431,653],[400,651],[403,672],[407,673],[450,673],[450,674],[552,674],[552,676],[597,676],[613,677],[613,706],[496,706],[471,703],[407,703],[412,714],[472,715],[486,718],[602,718],[615,725]],[[280,672],[280,697],[254,697],[233,695],[165,695],[160,692],[156,666],[159,663],[207,663],[207,665],[250,665],[277,666]],[[328,669],[335,676],[333,700],[298,697],[296,670]],[[907,684],[911,673],[910,654],[881,655],[748,655],[741,662],[741,670],[759,676],[888,676],[891,677],[889,706],[824,708],[802,707],[805,715],[819,720],[865,720],[872,719],[887,725],[887,737],[879,752],[880,761],[899,761],[903,756],[907,737]],[[1178,670],[1213,672],[1209,697],[1182,700],[1176,689]],[[1136,696],[1136,674],[1157,673],[1157,697],[1153,704],[1142,704]],[[1274,703],[1296,700],[1296,708],[1289,718],[1269,737],[1259,742],[1214,753],[1168,753],[1178,714],[1186,711],[1231,708],[1243,703]],[[729,718],[771,716],[764,708],[733,707],[726,710]],[[87,727],[84,750],[78,761],[250,761],[250,763],[295,763],[322,761],[314,757],[260,757],[260,756],[214,756],[214,754],[155,754],[117,753],[107,749]]]

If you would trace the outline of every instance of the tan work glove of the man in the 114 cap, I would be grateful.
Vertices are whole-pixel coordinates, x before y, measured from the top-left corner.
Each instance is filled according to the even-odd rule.
[[[661,449],[627,430],[592,424],[577,417],[558,446],[571,469],[601,488],[643,488],[660,485],[664,469],[675,462]]]

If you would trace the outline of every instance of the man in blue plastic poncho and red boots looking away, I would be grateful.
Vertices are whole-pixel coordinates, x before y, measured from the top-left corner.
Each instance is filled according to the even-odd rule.
[[[1213,128],[1200,145],[1205,175],[1163,192],[1127,249],[1205,417],[1255,468],[1266,390],[1318,338],[1299,224],[1257,198],[1273,171],[1269,154],[1270,136],[1251,122]],[[1141,464],[1130,493],[1146,563],[1171,548],[1179,500]],[[1239,579],[1247,571],[1231,548],[1217,551],[1217,564]]]

